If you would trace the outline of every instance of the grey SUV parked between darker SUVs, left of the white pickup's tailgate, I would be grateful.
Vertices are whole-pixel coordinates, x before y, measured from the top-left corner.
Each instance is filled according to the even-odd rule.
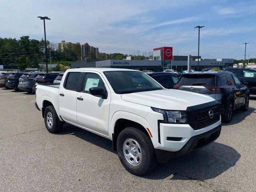
[[[22,76],[19,79],[18,89],[32,92],[32,87],[34,86],[34,79],[36,78],[36,76],[38,76],[38,72],[24,73]]]

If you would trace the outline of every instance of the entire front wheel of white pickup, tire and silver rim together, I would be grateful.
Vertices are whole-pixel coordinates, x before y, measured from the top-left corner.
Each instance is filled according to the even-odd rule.
[[[157,164],[154,146],[141,130],[128,127],[117,138],[118,157],[124,168],[137,176],[151,172]]]

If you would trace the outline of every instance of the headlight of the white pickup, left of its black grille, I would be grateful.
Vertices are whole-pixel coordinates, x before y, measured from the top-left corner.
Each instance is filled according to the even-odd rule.
[[[152,110],[164,115],[164,120],[170,123],[188,123],[187,114],[185,111],[169,111],[158,108]]]

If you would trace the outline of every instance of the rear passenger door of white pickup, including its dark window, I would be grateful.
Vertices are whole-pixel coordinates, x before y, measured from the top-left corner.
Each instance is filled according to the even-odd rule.
[[[59,110],[62,119],[66,122],[77,124],[76,121],[76,98],[79,88],[81,71],[71,71],[65,76],[64,82],[60,84]]]

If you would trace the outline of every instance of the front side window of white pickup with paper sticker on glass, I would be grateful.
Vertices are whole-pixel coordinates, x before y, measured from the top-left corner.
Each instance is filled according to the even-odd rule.
[[[103,88],[106,90],[104,82],[98,74],[87,73],[84,79],[83,92],[90,93],[89,89],[92,87]]]

